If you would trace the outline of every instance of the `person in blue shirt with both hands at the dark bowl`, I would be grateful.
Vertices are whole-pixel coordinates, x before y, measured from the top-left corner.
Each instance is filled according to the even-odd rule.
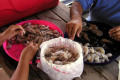
[[[75,0],[70,9],[71,21],[66,25],[69,38],[79,37],[82,31],[82,13],[89,9],[90,20],[106,23],[113,28],[109,36],[120,41],[120,5],[119,0]],[[115,27],[118,26],[118,27]]]

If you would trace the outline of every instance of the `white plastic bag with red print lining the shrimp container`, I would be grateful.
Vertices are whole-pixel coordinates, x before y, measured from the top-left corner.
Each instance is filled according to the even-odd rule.
[[[48,62],[45,59],[45,51],[48,47],[53,46],[64,46],[71,48],[78,52],[80,55],[79,58],[71,63],[66,65],[56,65]],[[83,55],[82,47],[79,43],[74,42],[70,39],[65,39],[62,37],[51,39],[49,41],[43,42],[40,46],[40,63],[37,64],[37,67],[41,68],[45,73],[49,75],[52,80],[72,80],[74,77],[80,77],[83,72]]]

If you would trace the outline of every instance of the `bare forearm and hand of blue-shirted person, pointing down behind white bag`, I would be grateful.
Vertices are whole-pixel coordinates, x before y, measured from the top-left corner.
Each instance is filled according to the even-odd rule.
[[[70,39],[74,39],[75,34],[79,37],[82,30],[82,13],[83,8],[79,2],[74,2],[70,9],[71,21],[66,25],[66,32]]]

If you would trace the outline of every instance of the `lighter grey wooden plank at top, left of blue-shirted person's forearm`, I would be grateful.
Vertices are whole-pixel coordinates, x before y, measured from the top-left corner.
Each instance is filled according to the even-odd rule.
[[[70,21],[70,8],[67,7],[63,3],[59,3],[59,5],[53,9],[51,9],[56,15],[58,15],[65,22]]]

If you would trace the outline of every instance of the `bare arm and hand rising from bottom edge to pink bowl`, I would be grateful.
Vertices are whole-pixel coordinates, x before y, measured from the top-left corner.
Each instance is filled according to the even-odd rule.
[[[28,80],[29,61],[32,60],[38,50],[38,45],[30,42],[30,44],[22,51],[18,66],[11,80]]]

